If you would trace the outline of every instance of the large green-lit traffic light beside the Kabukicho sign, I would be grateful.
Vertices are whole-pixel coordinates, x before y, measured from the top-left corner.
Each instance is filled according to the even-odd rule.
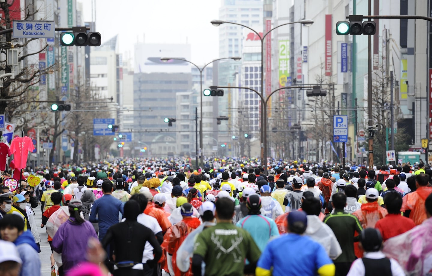
[[[72,27],[72,32],[60,34],[61,46],[100,46],[101,41],[100,33],[87,33],[86,27]]]

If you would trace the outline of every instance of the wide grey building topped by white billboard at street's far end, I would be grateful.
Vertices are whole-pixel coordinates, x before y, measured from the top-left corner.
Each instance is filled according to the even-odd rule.
[[[191,91],[192,74],[189,63],[181,60],[162,62],[162,57],[189,60],[189,44],[135,44],[135,74],[133,78],[134,140],[144,143],[151,156],[178,155],[176,126],[164,118],[176,118],[176,93]],[[190,107],[189,107],[190,108]],[[189,110],[189,109],[188,109]],[[180,148],[181,150],[181,148]]]

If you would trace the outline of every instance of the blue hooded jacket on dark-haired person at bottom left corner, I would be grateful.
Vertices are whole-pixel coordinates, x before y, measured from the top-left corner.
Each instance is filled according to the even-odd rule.
[[[41,260],[38,256],[38,245],[33,239],[30,231],[24,231],[16,238],[16,249],[18,249],[19,257],[22,260],[20,276],[40,276],[41,275]]]

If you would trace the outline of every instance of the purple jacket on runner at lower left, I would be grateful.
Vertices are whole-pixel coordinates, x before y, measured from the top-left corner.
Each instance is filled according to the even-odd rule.
[[[98,238],[92,223],[87,220],[82,224],[75,224],[74,219],[70,217],[60,225],[54,235],[52,246],[54,251],[61,254],[65,272],[86,260],[87,242],[90,237]]]

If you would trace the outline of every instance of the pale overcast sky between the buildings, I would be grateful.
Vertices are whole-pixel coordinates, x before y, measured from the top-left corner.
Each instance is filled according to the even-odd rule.
[[[90,0],[83,3],[84,20],[92,20]],[[102,42],[119,34],[119,52],[133,56],[133,45],[189,43],[198,65],[219,58],[220,0],[95,0],[96,30]],[[145,37],[145,38],[144,38]]]

